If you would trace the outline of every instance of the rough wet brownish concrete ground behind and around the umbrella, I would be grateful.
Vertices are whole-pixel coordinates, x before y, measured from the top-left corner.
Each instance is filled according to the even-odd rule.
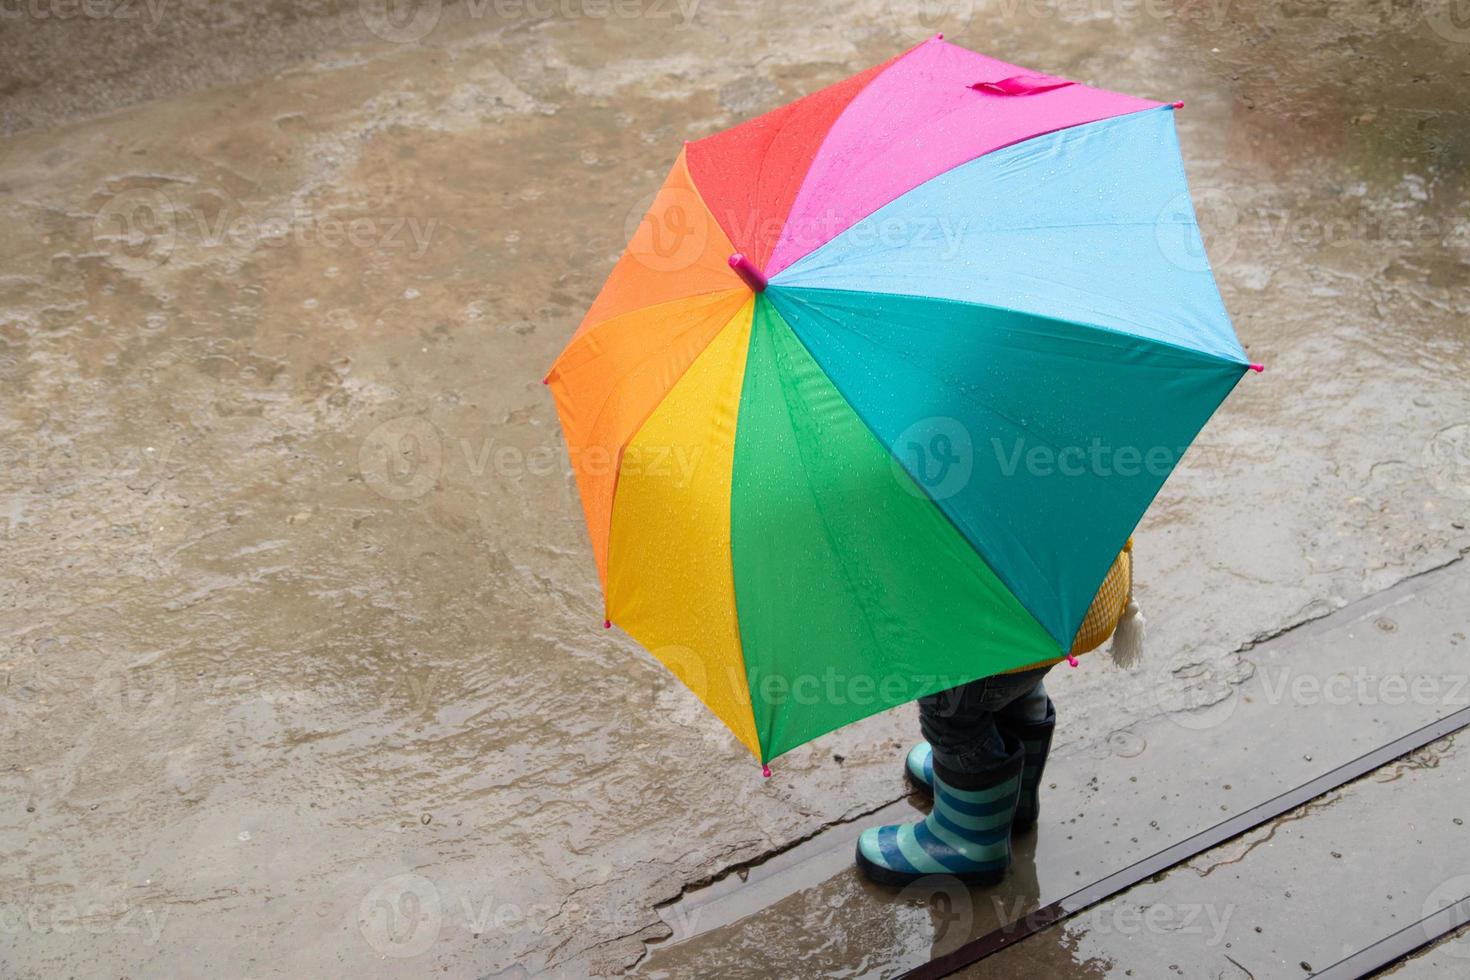
[[[1129,733],[1232,757],[1210,720],[1252,645],[1470,550],[1446,4],[26,10],[0,21],[0,976],[647,970],[686,887],[908,805],[911,708],[761,780],[600,629],[538,381],[681,140],[935,31],[1183,98],[1269,364],[1138,535],[1145,667],[1057,676],[1058,760],[1117,785],[1079,827],[1170,813],[1125,776],[1169,754]],[[1197,776],[1192,811],[1241,804]],[[1066,836],[1038,835],[1058,871],[1097,852]],[[820,884],[803,976],[883,974],[881,936],[828,949],[844,915],[928,921]],[[1132,968],[1066,929],[1028,955],[1048,939],[1053,968]]]

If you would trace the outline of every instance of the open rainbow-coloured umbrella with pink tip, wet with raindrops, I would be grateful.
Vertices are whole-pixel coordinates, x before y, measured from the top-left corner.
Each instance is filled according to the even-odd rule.
[[[1252,367],[1177,107],[936,37],[685,144],[547,383],[604,626],[760,763],[1063,657]]]

